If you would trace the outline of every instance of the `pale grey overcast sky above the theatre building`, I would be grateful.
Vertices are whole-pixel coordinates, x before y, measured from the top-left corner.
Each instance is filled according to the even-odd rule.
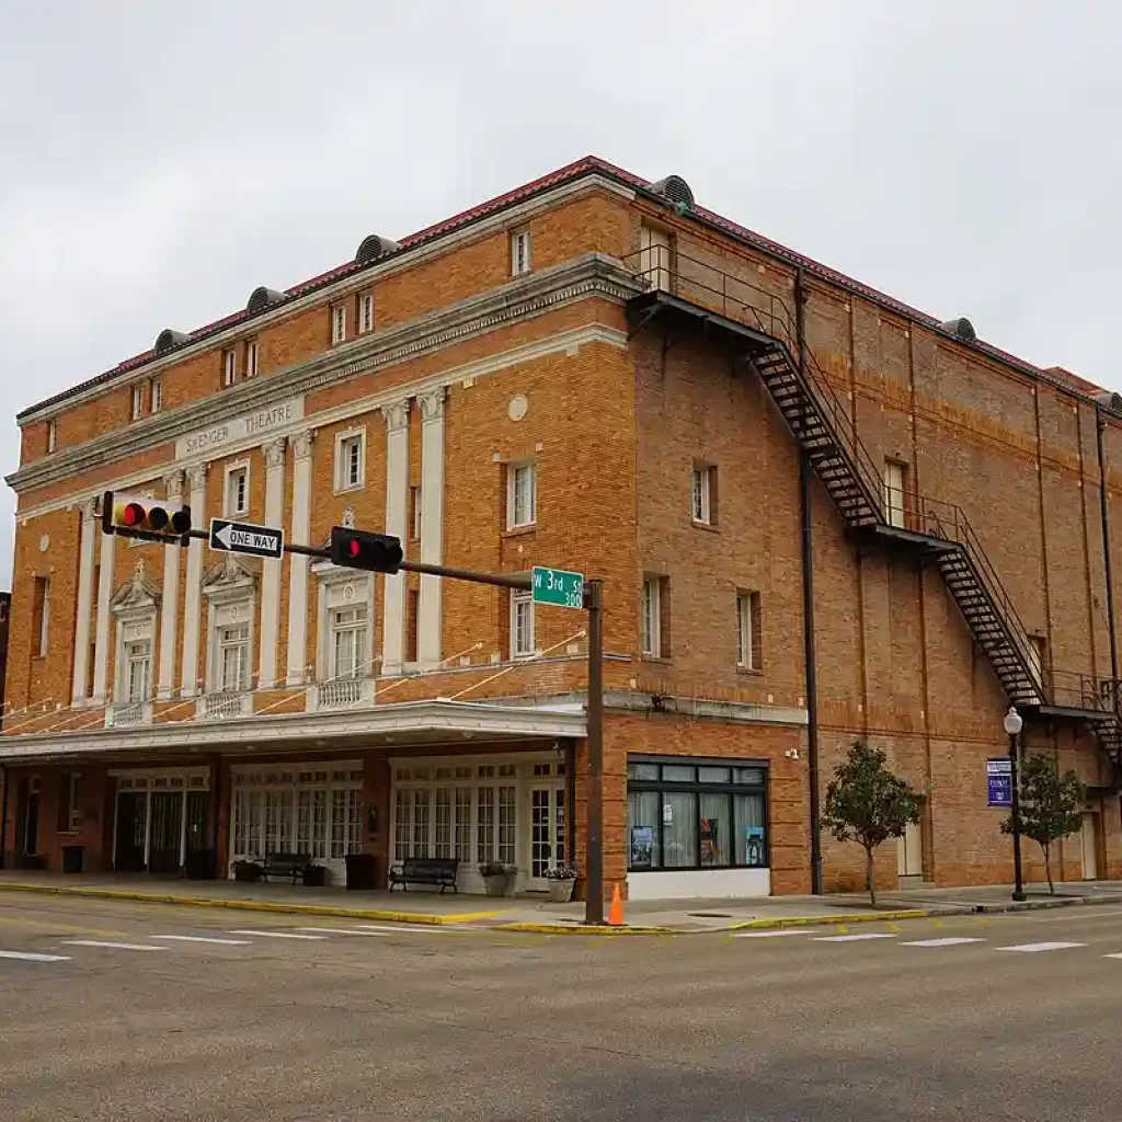
[[[1120,47],[1118,0],[0,0],[0,413],[587,153],[1122,389]]]

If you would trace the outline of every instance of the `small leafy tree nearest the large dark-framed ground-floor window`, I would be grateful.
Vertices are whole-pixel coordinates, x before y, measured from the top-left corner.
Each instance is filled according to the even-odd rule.
[[[855,741],[834,770],[821,819],[839,842],[858,842],[865,850],[865,885],[874,907],[873,850],[889,838],[903,837],[920,815],[920,795],[884,766],[885,758],[880,748]]]

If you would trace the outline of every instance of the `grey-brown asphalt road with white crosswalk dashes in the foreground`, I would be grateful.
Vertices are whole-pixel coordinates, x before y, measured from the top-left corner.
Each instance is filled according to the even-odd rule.
[[[1109,905],[592,939],[4,894],[0,1119],[1116,1122],[1110,955]]]

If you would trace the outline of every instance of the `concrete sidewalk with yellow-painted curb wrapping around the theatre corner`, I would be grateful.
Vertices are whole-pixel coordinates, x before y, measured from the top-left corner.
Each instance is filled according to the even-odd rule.
[[[859,923],[925,916],[1122,903],[1122,881],[1057,884],[1054,898],[1048,895],[1047,888],[1041,891],[1040,885],[1032,884],[1023,903],[1013,903],[1010,885],[882,892],[875,909],[870,905],[867,895],[855,893],[751,900],[644,900],[625,905],[624,927],[605,930],[581,926],[583,903],[558,904],[535,896],[494,899],[430,892],[347,892],[343,889],[305,889],[287,884],[184,881],[144,874],[64,876],[57,873],[0,872],[0,894],[8,892],[402,923],[456,925],[544,935],[690,935],[739,928]]]

